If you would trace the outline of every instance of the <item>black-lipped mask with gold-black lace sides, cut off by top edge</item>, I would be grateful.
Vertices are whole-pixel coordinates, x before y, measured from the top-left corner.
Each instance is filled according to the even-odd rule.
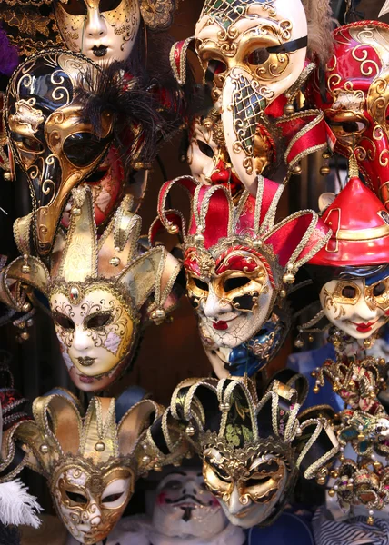
[[[66,46],[99,64],[138,54],[139,34],[173,23],[178,0],[15,0],[0,2],[0,19],[20,54]]]

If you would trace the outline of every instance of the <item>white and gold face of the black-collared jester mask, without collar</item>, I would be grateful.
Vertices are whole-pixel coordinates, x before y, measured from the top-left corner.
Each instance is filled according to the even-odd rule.
[[[238,479],[231,474],[231,463],[228,464],[231,459],[224,452],[211,448],[204,451],[203,457],[204,481],[217,495],[225,516],[234,526],[252,528],[270,517],[287,482],[283,460],[271,454],[258,455],[246,462],[244,479]],[[239,462],[233,467],[238,465]]]

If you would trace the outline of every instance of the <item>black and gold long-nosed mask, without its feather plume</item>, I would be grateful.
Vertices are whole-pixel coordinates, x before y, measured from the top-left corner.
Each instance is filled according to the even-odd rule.
[[[76,99],[80,78],[91,70],[97,77],[98,67],[85,57],[53,50],[20,64],[8,85],[8,144],[27,177],[40,255],[52,250],[70,191],[95,170],[112,139],[113,114],[102,113],[96,134]]]

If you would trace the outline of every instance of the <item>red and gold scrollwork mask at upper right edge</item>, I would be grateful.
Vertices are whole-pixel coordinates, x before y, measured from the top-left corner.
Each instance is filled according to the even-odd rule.
[[[358,21],[334,30],[334,55],[325,71],[325,94],[316,74],[314,102],[334,132],[334,151],[354,154],[364,178],[389,203],[389,25]]]

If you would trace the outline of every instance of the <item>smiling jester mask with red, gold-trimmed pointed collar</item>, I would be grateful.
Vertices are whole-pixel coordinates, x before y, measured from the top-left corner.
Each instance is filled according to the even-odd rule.
[[[165,210],[175,185],[191,196],[187,228],[180,213]],[[284,298],[294,275],[329,237],[313,211],[275,223],[282,192],[282,185],[262,176],[256,198],[245,190],[237,204],[224,186],[202,186],[193,178],[178,178],[161,188],[159,221],[168,232],[182,233],[187,294],[219,378],[253,374],[274,356],[290,325]],[[261,338],[264,324],[268,334]],[[256,362],[250,370],[241,362],[238,371],[233,362],[241,359],[244,343]]]

